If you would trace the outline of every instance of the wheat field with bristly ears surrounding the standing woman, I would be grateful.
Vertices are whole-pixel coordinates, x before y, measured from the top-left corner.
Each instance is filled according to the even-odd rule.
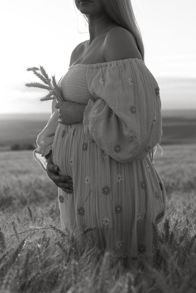
[[[0,152],[0,292],[196,292],[196,145],[162,148],[166,216],[152,227],[153,268],[137,272],[61,231],[57,187],[32,151]]]

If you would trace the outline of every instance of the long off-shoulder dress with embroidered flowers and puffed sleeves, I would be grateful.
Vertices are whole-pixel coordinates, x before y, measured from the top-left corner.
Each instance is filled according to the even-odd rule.
[[[37,139],[35,159],[52,158],[73,178],[59,188],[62,228],[93,228],[96,244],[129,267],[152,264],[152,226],[165,215],[163,182],[147,156],[162,136],[158,84],[137,58],[76,64],[61,78],[65,101],[85,104],[83,123],[61,125],[52,115]]]

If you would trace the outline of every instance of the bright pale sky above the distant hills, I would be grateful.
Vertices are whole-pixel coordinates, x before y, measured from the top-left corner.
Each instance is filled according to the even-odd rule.
[[[145,65],[160,88],[162,109],[196,109],[195,1],[132,0]],[[78,15],[78,18],[77,18]],[[66,74],[70,56],[89,39],[73,0],[1,0],[1,113],[50,112],[51,102],[24,87],[35,81],[27,67],[44,66],[56,79]]]

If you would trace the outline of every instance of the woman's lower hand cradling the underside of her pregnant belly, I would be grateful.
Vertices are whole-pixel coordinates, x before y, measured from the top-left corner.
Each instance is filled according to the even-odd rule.
[[[71,177],[60,176],[58,171],[58,166],[54,165],[52,157],[50,156],[46,167],[48,177],[56,184],[56,186],[60,187],[66,193],[73,193],[73,182],[68,182],[71,181]]]

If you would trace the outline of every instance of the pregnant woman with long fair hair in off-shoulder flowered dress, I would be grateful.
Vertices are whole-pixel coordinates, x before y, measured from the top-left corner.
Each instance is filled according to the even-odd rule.
[[[130,0],[75,5],[90,39],[71,54],[59,83],[65,102],[53,101],[34,156],[59,187],[62,228],[96,227],[97,247],[137,269],[153,263],[152,222],[166,209],[152,163],[162,136],[159,87]]]

